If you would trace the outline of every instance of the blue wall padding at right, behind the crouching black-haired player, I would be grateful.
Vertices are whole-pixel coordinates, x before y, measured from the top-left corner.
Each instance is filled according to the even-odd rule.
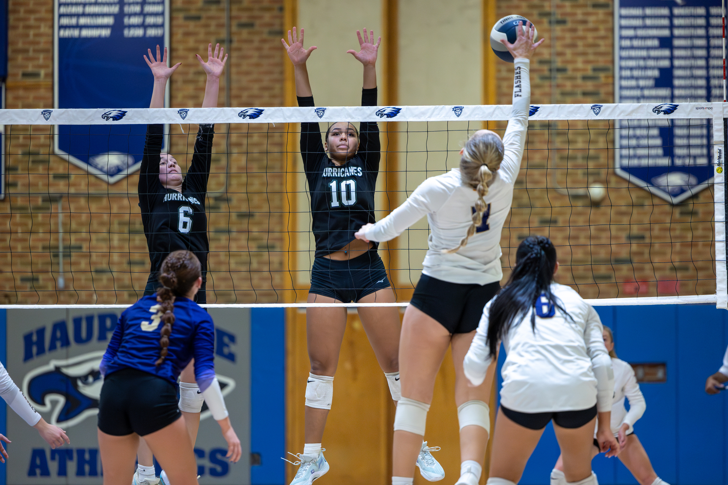
[[[657,475],[673,485],[728,483],[728,399],[705,393],[705,379],[719,369],[728,345],[728,313],[711,305],[595,308],[614,331],[622,360],[666,364],[667,382],[640,385],[647,410],[635,425]],[[547,485],[558,454],[548,425],[519,483]],[[601,485],[638,483],[619,459],[604,454],[593,470]]]

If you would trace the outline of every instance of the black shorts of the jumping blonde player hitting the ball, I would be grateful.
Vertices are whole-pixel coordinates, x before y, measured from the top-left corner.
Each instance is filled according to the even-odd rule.
[[[435,318],[451,334],[467,334],[478,328],[483,307],[499,289],[498,281],[483,285],[460,284],[423,274],[417,281],[410,305]]]

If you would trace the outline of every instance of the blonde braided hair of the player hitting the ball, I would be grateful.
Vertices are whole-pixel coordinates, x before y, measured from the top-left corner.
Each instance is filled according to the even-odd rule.
[[[500,168],[502,161],[503,140],[494,132],[480,130],[468,138],[460,157],[460,177],[462,183],[470,185],[478,192],[475,214],[472,215],[472,223],[460,244],[453,249],[444,249],[443,252],[457,252],[467,244],[467,240],[475,234],[478,226],[483,224],[483,214],[488,210],[488,204],[483,197],[488,193],[488,187],[493,183],[495,172]]]

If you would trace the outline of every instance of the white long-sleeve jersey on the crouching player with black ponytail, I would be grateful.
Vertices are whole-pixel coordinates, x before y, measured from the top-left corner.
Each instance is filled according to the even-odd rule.
[[[534,330],[531,308],[510,327],[503,339],[507,357],[501,370],[501,404],[528,413],[578,411],[595,403],[599,412],[610,411],[614,376],[598,313],[569,286],[553,283],[551,292],[571,318],[557,309],[553,317],[536,316]],[[497,298],[483,309],[463,362],[471,382],[482,382],[491,362],[486,345],[488,316]],[[597,372],[605,366],[607,372]]]

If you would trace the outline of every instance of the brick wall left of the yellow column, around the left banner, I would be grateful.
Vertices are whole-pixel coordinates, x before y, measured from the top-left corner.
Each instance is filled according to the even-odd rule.
[[[171,61],[183,63],[172,78],[171,106],[199,106],[205,75],[194,54],[204,56],[208,42],[224,42],[224,3],[170,3]],[[231,14],[227,68],[232,74],[232,105],[282,105],[282,0],[232,0]],[[52,1],[9,1],[7,108],[52,108],[52,31]],[[220,92],[222,106],[224,81]],[[238,124],[229,137],[226,125],[215,130],[207,198],[208,301],[274,301],[274,288],[285,286],[286,277],[281,271],[284,233],[277,230],[282,225],[284,129]],[[170,127],[170,152],[184,169],[195,131],[196,127]],[[0,301],[135,301],[149,271],[137,205],[138,176],[108,185],[68,164],[52,155],[50,127],[8,127],[7,135],[9,196],[0,201],[5,233]],[[119,195],[108,196],[109,192]],[[59,201],[64,289],[58,284]]]

